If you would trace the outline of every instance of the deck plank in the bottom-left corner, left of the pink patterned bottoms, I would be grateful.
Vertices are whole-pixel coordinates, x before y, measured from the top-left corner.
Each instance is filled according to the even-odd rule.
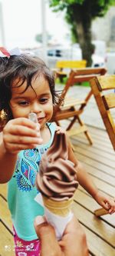
[[[0,256],[15,256],[15,247],[12,234],[0,222]]]

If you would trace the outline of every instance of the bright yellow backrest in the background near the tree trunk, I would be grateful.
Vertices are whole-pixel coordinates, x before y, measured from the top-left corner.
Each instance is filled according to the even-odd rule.
[[[74,60],[61,60],[56,63],[56,68],[85,68],[87,65],[86,60],[74,61]]]

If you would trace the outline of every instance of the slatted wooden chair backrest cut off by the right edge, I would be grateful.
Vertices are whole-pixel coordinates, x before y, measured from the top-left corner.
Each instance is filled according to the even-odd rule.
[[[90,85],[115,150],[115,75],[93,78]]]

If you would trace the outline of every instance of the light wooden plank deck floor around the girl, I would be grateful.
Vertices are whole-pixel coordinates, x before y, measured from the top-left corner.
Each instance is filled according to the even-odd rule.
[[[115,152],[106,131],[92,127],[89,130],[94,145],[88,145],[83,134],[77,135],[71,140],[74,143],[75,155],[84,164],[100,191],[114,197]],[[0,256],[15,256],[12,252],[11,218],[6,198],[6,185],[0,185]],[[94,210],[99,206],[81,186],[77,189],[73,208],[87,234],[90,255],[115,255],[115,214],[97,218]]]

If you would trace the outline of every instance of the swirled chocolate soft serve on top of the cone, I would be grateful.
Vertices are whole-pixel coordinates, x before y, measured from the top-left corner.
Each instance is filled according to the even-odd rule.
[[[51,148],[42,155],[36,185],[41,194],[54,201],[68,201],[76,191],[77,172],[69,161],[67,138],[55,133]]]

